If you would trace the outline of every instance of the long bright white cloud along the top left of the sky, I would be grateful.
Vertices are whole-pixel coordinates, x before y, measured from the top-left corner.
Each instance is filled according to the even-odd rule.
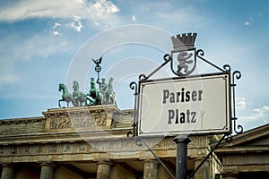
[[[23,0],[9,6],[0,7],[0,21],[22,21],[29,18],[74,19],[74,16],[90,21],[111,24],[119,12],[117,5],[107,0]],[[114,20],[114,22],[117,22]],[[107,24],[108,23],[108,24]],[[55,24],[55,28],[60,24]],[[76,30],[81,30],[75,25]]]

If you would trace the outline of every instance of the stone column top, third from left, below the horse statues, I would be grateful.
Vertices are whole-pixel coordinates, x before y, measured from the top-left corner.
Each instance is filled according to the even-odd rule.
[[[109,179],[111,162],[109,161],[100,161],[97,163],[97,177],[96,179]]]

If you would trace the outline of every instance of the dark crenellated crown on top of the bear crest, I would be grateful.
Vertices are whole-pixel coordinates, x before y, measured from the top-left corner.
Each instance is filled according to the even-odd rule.
[[[172,36],[173,47],[175,51],[190,50],[195,47],[195,38],[197,33],[183,33],[177,36]]]

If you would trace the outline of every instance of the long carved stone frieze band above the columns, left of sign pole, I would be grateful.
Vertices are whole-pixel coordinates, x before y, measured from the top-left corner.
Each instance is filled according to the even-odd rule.
[[[164,139],[161,142],[156,140],[146,141],[149,146],[155,146],[157,142],[160,145],[156,149],[175,149],[175,144],[168,142],[170,139]],[[171,145],[171,146],[166,146]],[[154,149],[155,147],[153,147]],[[117,151],[141,151],[146,149],[139,147],[134,140],[112,140],[112,141],[91,141],[87,142],[68,142],[68,143],[43,143],[0,146],[0,157],[4,156],[32,156],[32,155],[62,155],[62,154],[80,154],[91,152],[117,152]]]

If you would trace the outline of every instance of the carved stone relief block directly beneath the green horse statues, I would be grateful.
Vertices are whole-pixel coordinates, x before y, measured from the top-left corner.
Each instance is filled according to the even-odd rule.
[[[48,109],[43,112],[47,119],[45,132],[110,129],[113,115],[118,111],[115,106]]]

